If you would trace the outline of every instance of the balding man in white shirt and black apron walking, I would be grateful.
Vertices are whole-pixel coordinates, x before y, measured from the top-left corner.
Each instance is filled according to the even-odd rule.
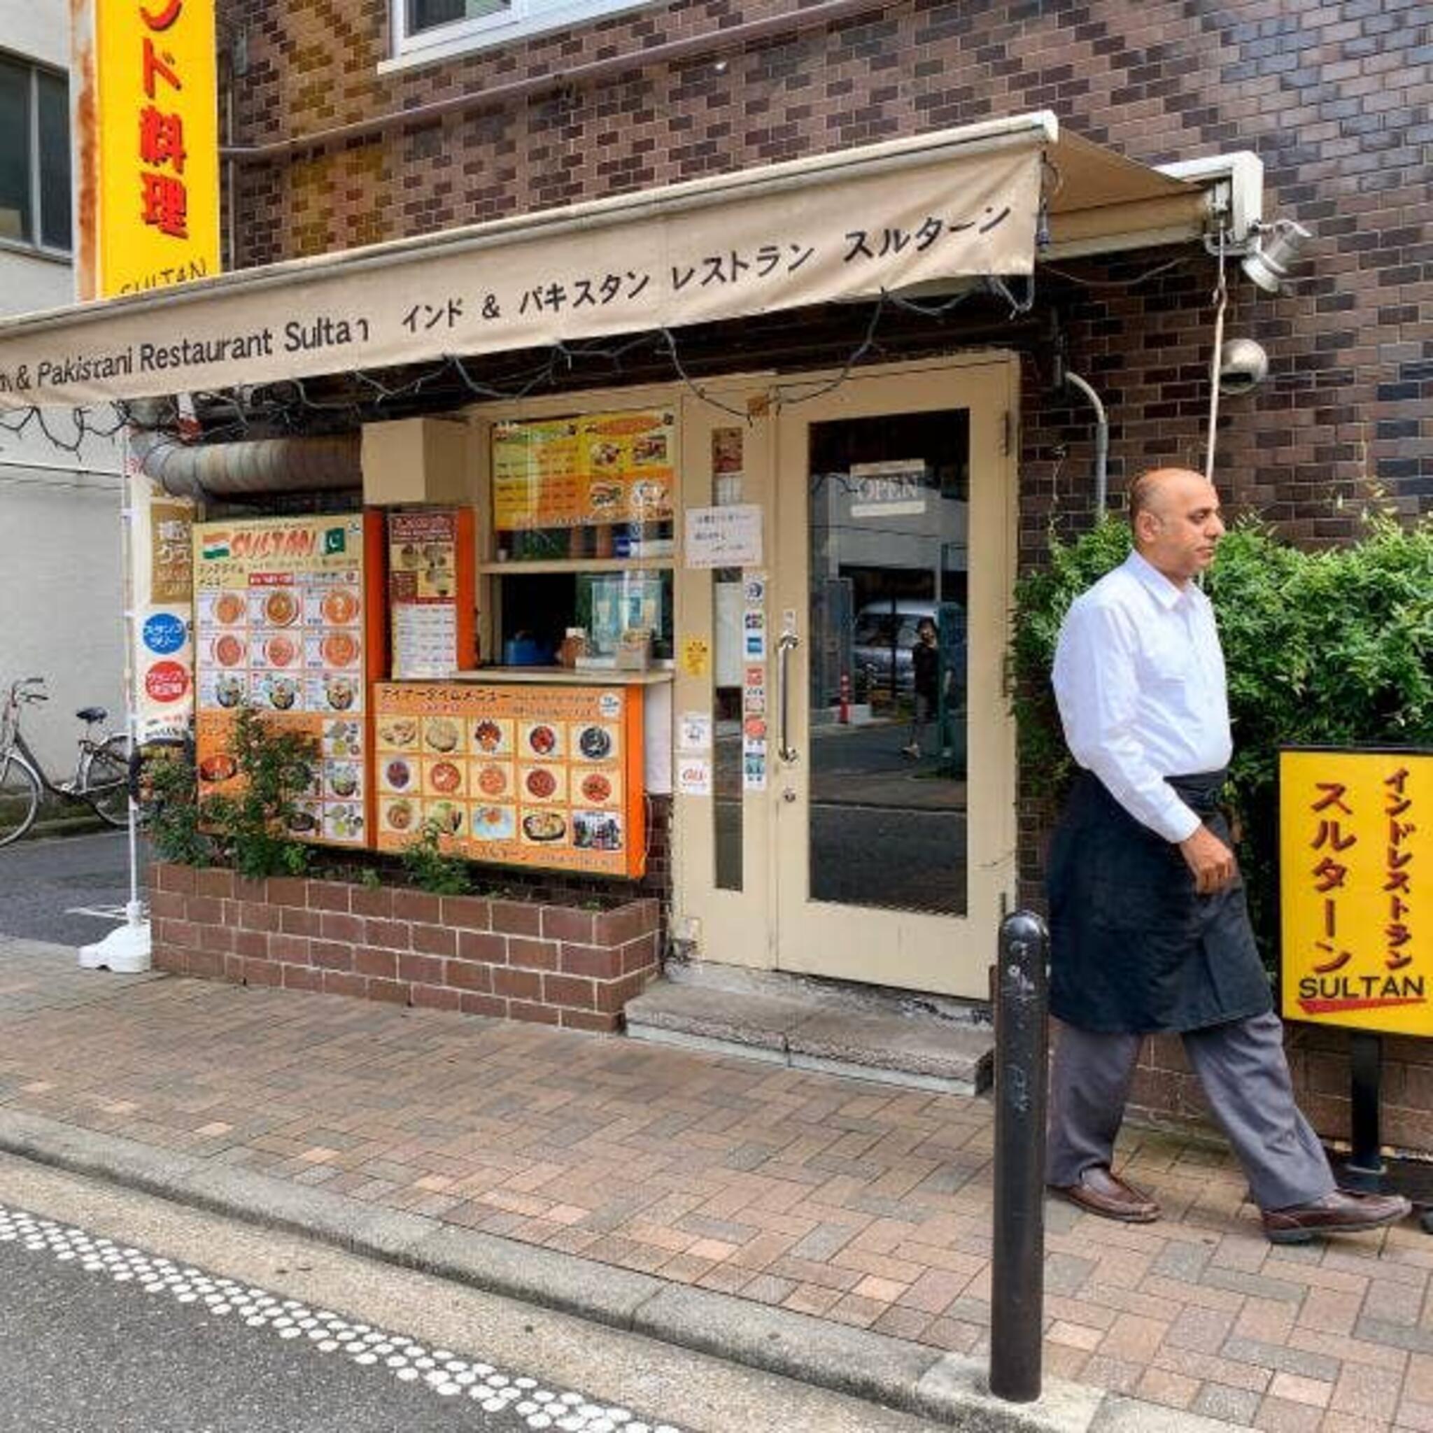
[[[1224,656],[1195,577],[1224,533],[1198,473],[1134,483],[1135,550],[1076,599],[1055,695],[1083,768],[1049,860],[1048,1178],[1091,1214],[1144,1224],[1152,1198],[1112,1169],[1145,1035],[1178,1032],[1278,1244],[1391,1224],[1401,1195],[1346,1194],[1294,1103],[1219,814],[1231,755]]]

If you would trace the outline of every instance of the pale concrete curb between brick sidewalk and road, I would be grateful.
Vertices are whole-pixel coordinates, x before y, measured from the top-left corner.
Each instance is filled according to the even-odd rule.
[[[0,1151],[941,1423],[959,1423],[963,1433],[1209,1433],[1230,1427],[1056,1379],[1046,1380],[1039,1403],[1003,1403],[986,1391],[983,1363],[941,1354],[926,1344],[674,1284],[426,1215],[375,1209],[322,1189],[21,1111],[0,1109]]]

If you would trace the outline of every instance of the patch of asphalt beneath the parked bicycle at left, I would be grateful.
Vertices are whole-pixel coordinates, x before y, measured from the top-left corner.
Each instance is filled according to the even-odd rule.
[[[0,847],[0,934],[85,946],[123,923],[128,900],[125,831],[27,837]]]

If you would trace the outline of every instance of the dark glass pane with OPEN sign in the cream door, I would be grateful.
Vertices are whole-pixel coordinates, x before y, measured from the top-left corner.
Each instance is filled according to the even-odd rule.
[[[963,916],[970,413],[807,441],[808,896]]]

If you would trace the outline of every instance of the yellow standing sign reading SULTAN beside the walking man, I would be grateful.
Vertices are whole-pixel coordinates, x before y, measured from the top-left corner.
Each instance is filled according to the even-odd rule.
[[[1280,752],[1284,1016],[1433,1035],[1433,754]]]

